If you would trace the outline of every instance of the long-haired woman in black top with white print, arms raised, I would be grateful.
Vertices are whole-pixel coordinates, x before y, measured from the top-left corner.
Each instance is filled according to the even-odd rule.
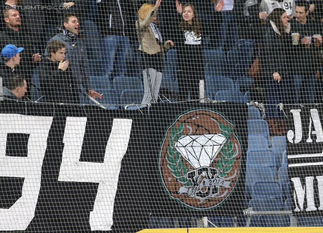
[[[220,0],[214,5],[214,20],[221,20],[221,10],[224,1]],[[174,30],[174,44],[177,49],[178,62],[178,87],[179,99],[187,100],[189,91],[191,99],[199,99],[199,80],[204,78],[203,63],[203,37],[207,36],[207,30],[202,30],[196,10],[192,4],[182,4],[176,1],[176,9],[182,14],[182,20]],[[179,17],[178,17],[179,18]],[[204,28],[203,28],[204,29]]]

